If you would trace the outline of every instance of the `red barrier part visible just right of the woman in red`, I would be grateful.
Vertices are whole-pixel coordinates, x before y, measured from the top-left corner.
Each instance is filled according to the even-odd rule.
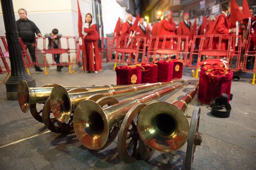
[[[108,62],[109,57],[109,37],[100,37],[99,51],[101,62]]]

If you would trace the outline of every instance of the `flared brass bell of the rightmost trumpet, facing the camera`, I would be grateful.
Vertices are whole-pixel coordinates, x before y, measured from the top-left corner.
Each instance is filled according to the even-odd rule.
[[[189,123],[184,113],[167,102],[146,106],[138,117],[141,139],[160,152],[172,152],[183,146],[189,136]]]

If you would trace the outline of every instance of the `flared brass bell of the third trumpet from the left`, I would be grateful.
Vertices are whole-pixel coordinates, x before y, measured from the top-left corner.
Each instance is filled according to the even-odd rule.
[[[92,100],[84,100],[77,106],[73,126],[80,142],[89,149],[100,149],[108,141],[108,117],[100,105]]]

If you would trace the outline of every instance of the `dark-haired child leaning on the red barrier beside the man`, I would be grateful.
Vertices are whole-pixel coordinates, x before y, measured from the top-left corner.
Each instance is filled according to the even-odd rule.
[[[59,48],[59,38],[62,34],[60,34],[56,28],[54,28],[51,33],[46,33],[44,36],[49,39],[48,49],[51,49],[51,42],[53,42],[53,48]],[[59,56],[60,54],[54,54],[54,61],[56,64],[60,63]],[[63,66],[57,66],[57,72],[61,72],[61,68],[63,68]]]

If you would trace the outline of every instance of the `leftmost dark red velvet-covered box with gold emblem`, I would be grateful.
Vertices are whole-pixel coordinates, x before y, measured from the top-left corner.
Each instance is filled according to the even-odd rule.
[[[136,66],[119,66],[115,68],[116,84],[140,84],[142,67]]]

